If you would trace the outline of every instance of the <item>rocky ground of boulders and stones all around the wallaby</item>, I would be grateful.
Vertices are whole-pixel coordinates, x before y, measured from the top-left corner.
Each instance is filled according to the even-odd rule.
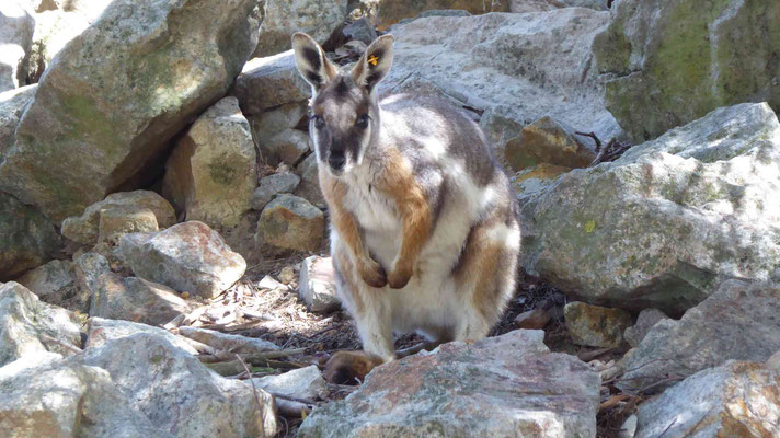
[[[778,4],[2,2],[0,436],[780,436]],[[379,93],[494,145],[486,339],[324,380],[359,342],[296,31],[344,68],[392,33]]]

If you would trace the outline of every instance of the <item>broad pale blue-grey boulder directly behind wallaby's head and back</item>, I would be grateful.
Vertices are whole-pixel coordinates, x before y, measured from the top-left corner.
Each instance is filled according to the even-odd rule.
[[[621,130],[605,107],[606,79],[590,68],[594,37],[608,23],[609,12],[580,8],[417,19],[393,27],[393,67],[379,89],[484,111],[481,125],[501,157],[543,116],[608,140]]]

